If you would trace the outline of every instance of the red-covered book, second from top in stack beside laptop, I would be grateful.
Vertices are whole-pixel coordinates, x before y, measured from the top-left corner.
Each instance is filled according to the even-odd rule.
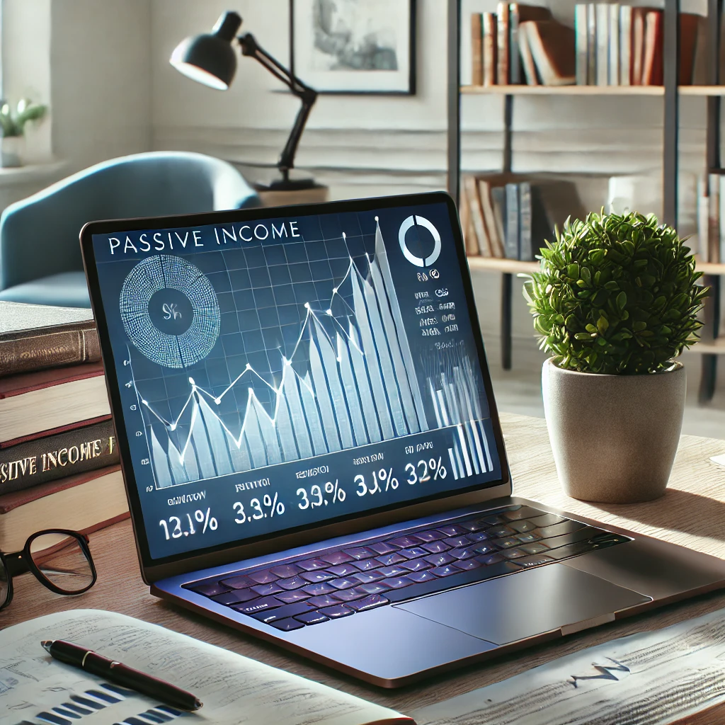
[[[110,413],[101,363],[0,378],[0,444]]]

